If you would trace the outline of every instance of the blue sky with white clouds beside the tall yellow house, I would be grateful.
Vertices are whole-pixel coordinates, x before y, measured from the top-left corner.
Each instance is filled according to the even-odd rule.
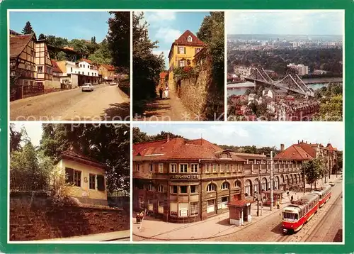
[[[164,53],[166,70],[169,69],[169,51],[174,40],[186,30],[196,33],[209,12],[146,11],[144,19],[149,23],[149,38],[159,41],[154,53]]]

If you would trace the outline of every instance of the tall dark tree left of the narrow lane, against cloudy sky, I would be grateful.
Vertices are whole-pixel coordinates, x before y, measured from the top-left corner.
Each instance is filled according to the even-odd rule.
[[[159,73],[164,70],[164,57],[152,53],[158,48],[157,41],[149,38],[144,13],[133,13],[133,111],[144,111],[147,100],[156,97],[156,84]]]

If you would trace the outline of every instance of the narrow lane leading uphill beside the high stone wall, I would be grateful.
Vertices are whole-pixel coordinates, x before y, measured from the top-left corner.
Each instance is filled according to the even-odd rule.
[[[198,121],[173,91],[169,91],[168,99],[157,96],[146,108],[142,117],[135,117],[136,121]]]

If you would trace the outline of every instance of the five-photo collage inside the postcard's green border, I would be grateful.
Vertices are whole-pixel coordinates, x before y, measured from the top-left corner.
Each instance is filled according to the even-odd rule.
[[[343,244],[343,10],[8,11],[8,243]]]

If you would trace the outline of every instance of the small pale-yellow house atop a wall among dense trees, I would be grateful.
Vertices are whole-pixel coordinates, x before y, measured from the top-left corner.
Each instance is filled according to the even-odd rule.
[[[74,150],[62,153],[57,167],[66,175],[71,197],[83,204],[108,206],[105,165],[81,155]]]

